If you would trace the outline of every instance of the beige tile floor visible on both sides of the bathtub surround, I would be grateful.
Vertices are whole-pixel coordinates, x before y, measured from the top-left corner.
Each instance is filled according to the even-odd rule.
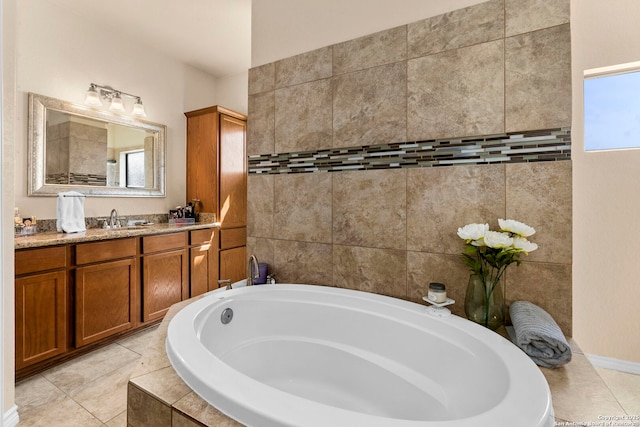
[[[141,331],[18,383],[18,426],[126,427],[127,382],[155,330]],[[596,370],[625,412],[640,415],[640,375]]]

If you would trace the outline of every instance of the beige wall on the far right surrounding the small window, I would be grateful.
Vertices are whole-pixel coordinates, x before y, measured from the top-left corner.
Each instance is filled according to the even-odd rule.
[[[640,60],[637,0],[571,2],[573,330],[585,353],[640,363],[640,150],[584,152],[584,70]]]

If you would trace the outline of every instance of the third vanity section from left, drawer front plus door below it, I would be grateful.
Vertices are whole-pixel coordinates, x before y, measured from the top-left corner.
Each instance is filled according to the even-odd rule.
[[[142,321],[164,317],[189,298],[187,232],[142,238]]]

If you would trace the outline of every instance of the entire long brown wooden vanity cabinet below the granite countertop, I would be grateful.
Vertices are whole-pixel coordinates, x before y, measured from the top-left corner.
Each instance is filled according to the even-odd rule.
[[[152,324],[171,305],[218,287],[216,227],[118,233],[94,240],[88,230],[88,241],[16,248],[17,379]]]

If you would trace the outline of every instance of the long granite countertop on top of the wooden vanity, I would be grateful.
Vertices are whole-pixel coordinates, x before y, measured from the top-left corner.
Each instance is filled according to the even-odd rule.
[[[124,237],[146,236],[152,234],[167,234],[178,231],[200,230],[203,228],[220,227],[219,222],[196,222],[195,224],[138,225],[116,229],[88,228],[82,233],[36,233],[14,238],[15,249],[39,248],[44,246],[64,245],[67,243],[95,242],[99,240],[121,239]]]

